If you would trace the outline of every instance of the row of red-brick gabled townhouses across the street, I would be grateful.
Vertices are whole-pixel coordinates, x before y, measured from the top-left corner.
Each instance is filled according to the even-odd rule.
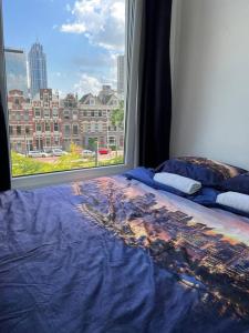
[[[124,125],[113,123],[113,112],[121,100],[111,87],[98,95],[91,93],[77,100],[68,94],[60,99],[52,89],[41,89],[28,99],[20,90],[8,95],[11,149],[23,154],[31,150],[70,151],[72,143],[81,149],[124,149]]]

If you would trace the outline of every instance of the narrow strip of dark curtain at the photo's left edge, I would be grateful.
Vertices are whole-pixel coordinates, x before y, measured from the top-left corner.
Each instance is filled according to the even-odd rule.
[[[3,112],[2,98],[0,97],[0,191],[9,190],[10,184],[10,161],[8,147],[8,131],[6,115]]]

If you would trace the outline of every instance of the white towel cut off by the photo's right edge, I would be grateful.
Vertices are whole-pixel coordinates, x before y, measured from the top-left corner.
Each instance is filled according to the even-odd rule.
[[[249,213],[249,195],[238,192],[226,192],[218,194],[216,202],[234,208],[238,211]]]

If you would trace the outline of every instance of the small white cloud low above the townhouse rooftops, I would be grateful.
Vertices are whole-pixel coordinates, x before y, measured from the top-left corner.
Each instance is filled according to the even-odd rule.
[[[86,93],[97,94],[102,88],[101,81],[95,78],[91,77],[86,73],[81,75],[79,83],[74,84],[74,91],[77,92],[80,95]]]

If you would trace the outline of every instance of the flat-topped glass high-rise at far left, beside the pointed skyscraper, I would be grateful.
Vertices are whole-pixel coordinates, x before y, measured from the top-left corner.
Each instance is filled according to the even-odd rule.
[[[7,91],[21,90],[28,95],[27,57],[23,50],[4,49]]]

